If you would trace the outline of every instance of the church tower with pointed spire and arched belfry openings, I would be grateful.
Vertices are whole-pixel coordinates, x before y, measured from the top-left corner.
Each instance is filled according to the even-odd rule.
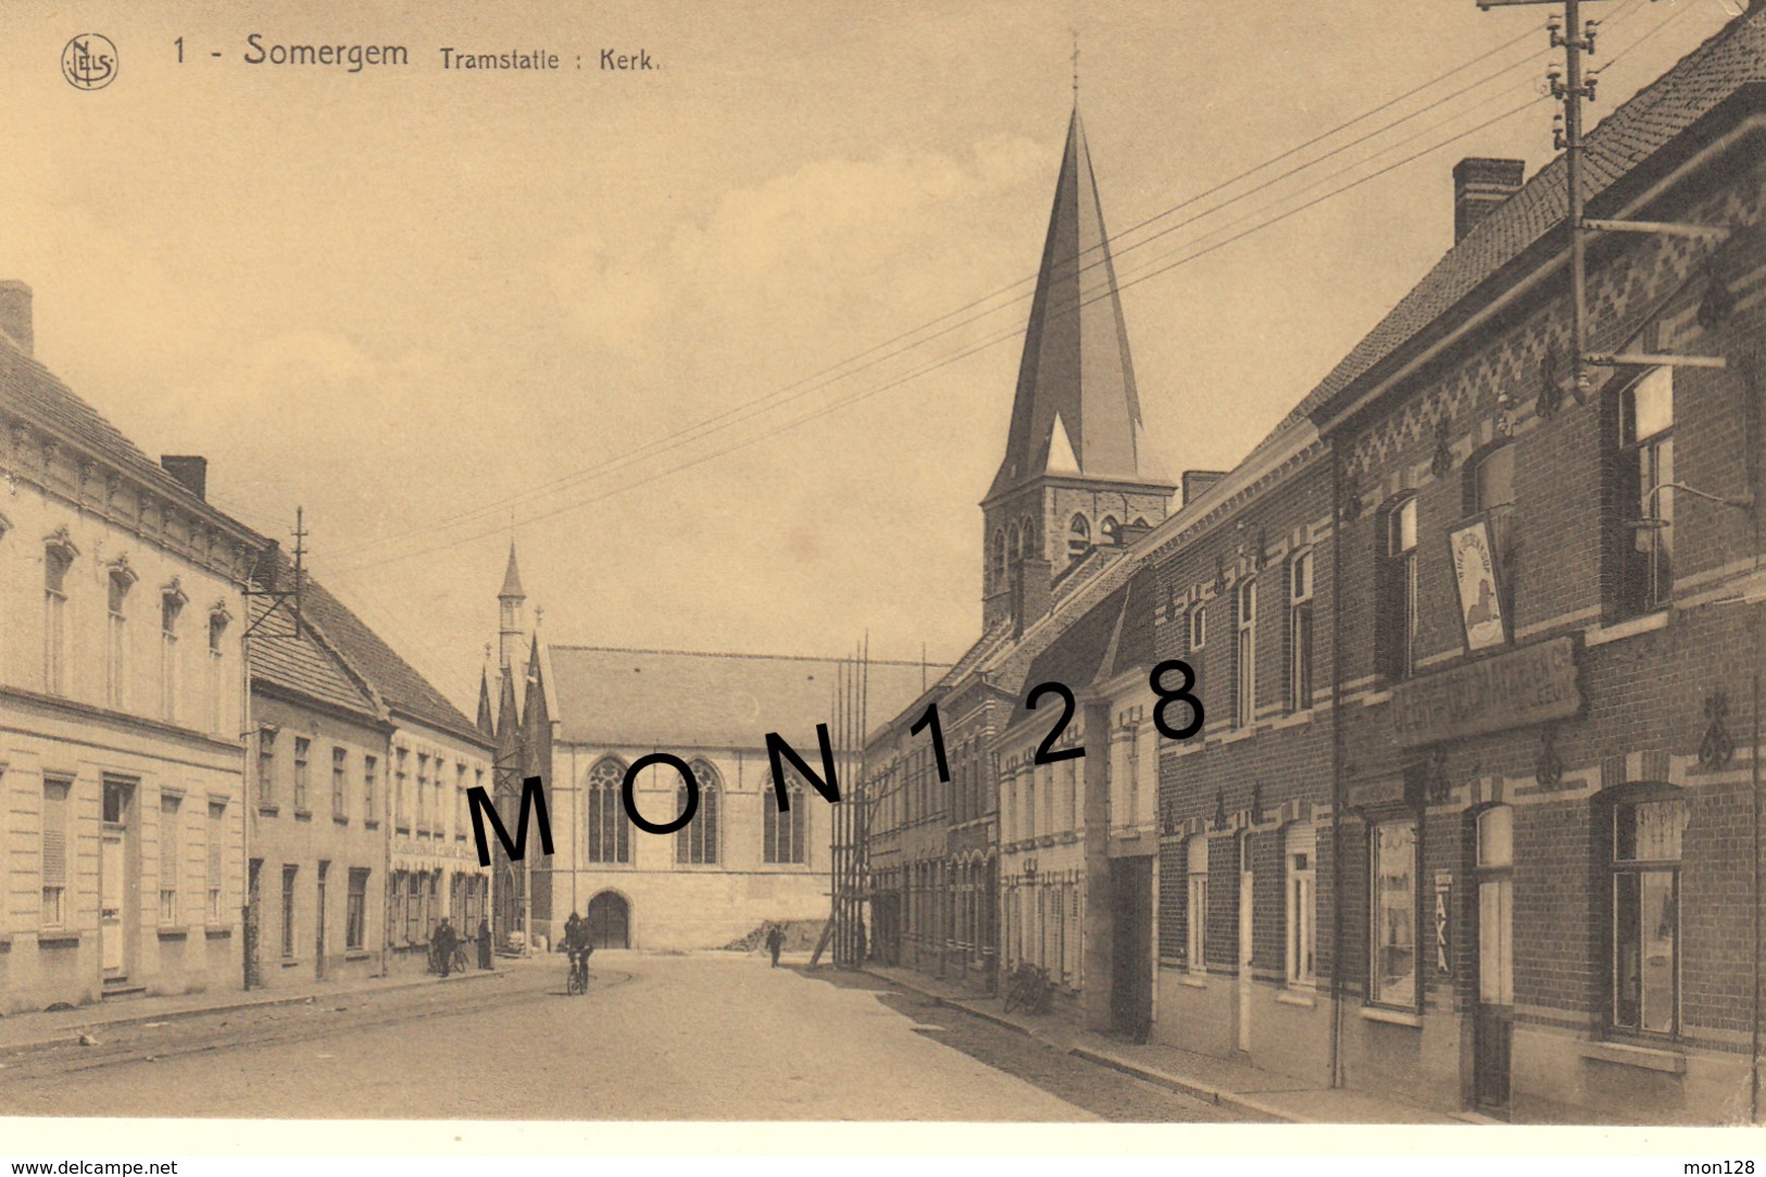
[[[1070,566],[1164,520],[1174,491],[1146,449],[1075,97],[1005,459],[980,504],[982,626],[1035,622]]]

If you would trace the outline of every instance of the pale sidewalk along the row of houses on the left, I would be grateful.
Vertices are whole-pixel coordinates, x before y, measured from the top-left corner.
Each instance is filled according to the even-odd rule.
[[[18,1055],[48,1046],[74,1044],[81,1034],[102,1037],[104,1030],[141,1025],[147,1021],[177,1021],[210,1013],[237,1009],[267,1009],[272,1006],[298,1006],[306,1002],[336,1000],[389,990],[410,990],[426,984],[463,984],[509,976],[519,960],[498,958],[491,972],[459,972],[445,981],[436,976],[367,977],[362,981],[309,981],[283,984],[274,990],[210,990],[207,993],[178,993],[171,997],[136,997],[122,1002],[94,1002],[55,1013],[23,1013],[0,1018],[0,1057]]]

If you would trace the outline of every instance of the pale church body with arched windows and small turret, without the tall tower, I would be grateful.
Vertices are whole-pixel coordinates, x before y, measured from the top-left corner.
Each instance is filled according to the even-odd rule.
[[[788,767],[781,809],[766,733],[819,771],[816,725],[834,726],[848,659],[549,645],[526,622],[514,544],[498,606],[494,687],[487,673],[479,696],[498,749],[496,809],[514,831],[521,783],[539,776],[553,831],[553,852],[530,841],[521,862],[493,838],[498,937],[532,928],[556,944],[577,912],[597,949],[717,949],[766,923],[828,919],[832,804]],[[867,663],[869,714],[894,714],[945,670]],[[857,733],[851,744],[837,753],[844,799]],[[687,762],[699,790],[692,822],[671,834],[639,829],[620,797],[627,769],[659,751]],[[650,824],[687,804],[668,765],[641,769],[632,794]]]

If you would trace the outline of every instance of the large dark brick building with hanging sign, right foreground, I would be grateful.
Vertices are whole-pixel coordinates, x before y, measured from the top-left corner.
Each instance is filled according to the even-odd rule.
[[[1148,539],[1208,705],[1160,753],[1155,1039],[1757,1117],[1762,48],[1755,5],[1588,138],[1588,216],[1727,237],[1596,237],[1586,405],[1563,161],[1466,161],[1441,263]]]

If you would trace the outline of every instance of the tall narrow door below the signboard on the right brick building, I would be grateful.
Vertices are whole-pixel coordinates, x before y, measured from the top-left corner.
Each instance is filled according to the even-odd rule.
[[[1513,809],[1478,815],[1478,1013],[1473,1025],[1473,1097],[1508,1119],[1510,1044],[1515,1030]]]

